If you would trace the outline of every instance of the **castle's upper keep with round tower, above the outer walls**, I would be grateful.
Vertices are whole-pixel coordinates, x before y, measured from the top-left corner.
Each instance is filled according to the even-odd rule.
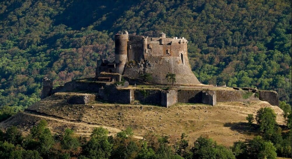
[[[145,73],[152,75],[154,84],[170,84],[165,76],[176,76],[176,85],[201,84],[193,74],[187,57],[187,43],[184,38],[129,36],[127,31],[115,35],[115,61],[103,60],[96,69],[101,72],[118,73],[129,78],[139,78]]]

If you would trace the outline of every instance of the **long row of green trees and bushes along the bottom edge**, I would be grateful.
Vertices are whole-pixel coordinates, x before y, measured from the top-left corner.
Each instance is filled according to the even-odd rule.
[[[15,138],[23,138],[16,127],[9,128],[2,134],[10,141]],[[8,134],[6,134],[8,133]],[[11,133],[11,134],[10,134]],[[1,135],[0,134],[0,135]],[[15,137],[15,134],[18,134]],[[183,159],[183,158],[275,158],[276,151],[279,156],[291,157],[291,133],[281,136],[278,128],[274,134],[255,137],[253,140],[235,142],[228,149],[218,145],[212,139],[199,137],[192,148],[189,147],[187,135],[181,135],[180,140],[174,145],[169,145],[168,136],[159,136],[153,132],[147,133],[142,140],[134,139],[133,130],[117,133],[116,136],[107,136],[108,131],[102,127],[95,128],[90,140],[82,139],[74,135],[71,129],[66,129],[62,137],[55,136],[55,141],[47,128],[47,122],[41,121],[31,129],[31,134],[25,137],[23,144],[16,142],[0,141],[0,158],[137,158],[137,159]],[[269,138],[266,138],[269,137]],[[82,147],[79,147],[82,142]],[[175,151],[174,151],[175,150]],[[82,152],[82,153],[81,153]]]

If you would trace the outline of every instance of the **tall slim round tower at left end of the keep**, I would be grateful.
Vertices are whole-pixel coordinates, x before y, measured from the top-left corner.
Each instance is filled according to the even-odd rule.
[[[114,36],[116,73],[119,74],[123,74],[127,61],[128,37],[129,35],[127,31],[124,31],[123,34],[116,34]]]

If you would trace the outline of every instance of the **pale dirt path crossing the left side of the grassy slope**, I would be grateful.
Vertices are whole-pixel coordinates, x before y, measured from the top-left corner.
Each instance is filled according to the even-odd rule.
[[[53,121],[57,121],[57,122],[61,122],[61,123],[66,123],[66,124],[74,124],[74,125],[78,125],[79,127],[91,127],[91,128],[97,128],[97,127],[103,127],[105,129],[107,129],[108,131],[111,131],[113,133],[118,133],[121,130],[118,128],[114,128],[114,127],[110,127],[110,126],[104,126],[101,124],[87,124],[85,122],[73,122],[73,121],[67,121],[66,119],[60,119],[60,118],[55,118],[55,117],[50,117],[49,115],[38,115],[37,113],[33,113],[33,112],[23,112],[26,115],[31,115],[31,116],[35,116],[35,117],[40,117],[40,118],[44,118],[47,120],[53,120]],[[79,133],[80,135],[86,135],[86,136],[90,136],[91,133]],[[143,137],[141,136],[135,136],[133,135],[134,138],[137,139],[143,139]]]

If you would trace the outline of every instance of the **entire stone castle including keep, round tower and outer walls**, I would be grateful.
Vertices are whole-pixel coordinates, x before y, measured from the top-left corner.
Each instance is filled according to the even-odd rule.
[[[74,92],[67,97],[70,104],[107,101],[167,108],[178,102],[215,106],[217,102],[262,100],[279,105],[274,91],[201,84],[190,68],[187,43],[184,37],[166,38],[164,33],[159,37],[129,36],[127,31],[116,34],[114,61],[100,59],[94,78],[73,80],[55,89],[44,78],[41,98]],[[175,74],[175,85],[166,80],[168,73]],[[147,82],[141,78],[145,74],[151,76]]]

